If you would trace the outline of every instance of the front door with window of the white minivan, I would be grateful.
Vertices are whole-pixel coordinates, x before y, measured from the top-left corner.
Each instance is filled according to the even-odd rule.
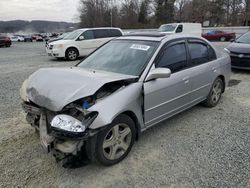
[[[81,39],[83,37],[83,39]],[[95,37],[92,30],[84,31],[76,40],[76,45],[80,49],[80,56],[85,56],[90,54],[96,49]]]

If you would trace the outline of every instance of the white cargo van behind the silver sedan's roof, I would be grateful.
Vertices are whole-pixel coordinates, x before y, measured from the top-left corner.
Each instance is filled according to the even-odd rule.
[[[161,25],[158,29],[159,32],[165,34],[190,34],[201,37],[202,27],[200,23],[170,23]]]

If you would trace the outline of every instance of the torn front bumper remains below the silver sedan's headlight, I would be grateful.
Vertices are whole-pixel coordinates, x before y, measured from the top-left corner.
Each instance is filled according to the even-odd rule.
[[[48,153],[53,153],[57,160],[81,153],[86,142],[100,131],[86,129],[80,134],[52,128],[50,120],[53,118],[53,112],[28,102],[23,102],[22,108],[27,113],[27,121],[39,130],[42,147]]]

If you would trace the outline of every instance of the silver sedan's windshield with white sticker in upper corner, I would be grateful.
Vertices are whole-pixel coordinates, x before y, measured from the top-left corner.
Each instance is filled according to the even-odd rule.
[[[83,60],[78,67],[139,76],[158,42],[114,40]]]

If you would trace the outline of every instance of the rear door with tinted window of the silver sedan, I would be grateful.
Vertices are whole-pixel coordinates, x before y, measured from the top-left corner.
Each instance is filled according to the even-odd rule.
[[[215,80],[219,64],[214,49],[203,40],[188,40],[190,82],[192,83],[191,101],[204,100]]]

